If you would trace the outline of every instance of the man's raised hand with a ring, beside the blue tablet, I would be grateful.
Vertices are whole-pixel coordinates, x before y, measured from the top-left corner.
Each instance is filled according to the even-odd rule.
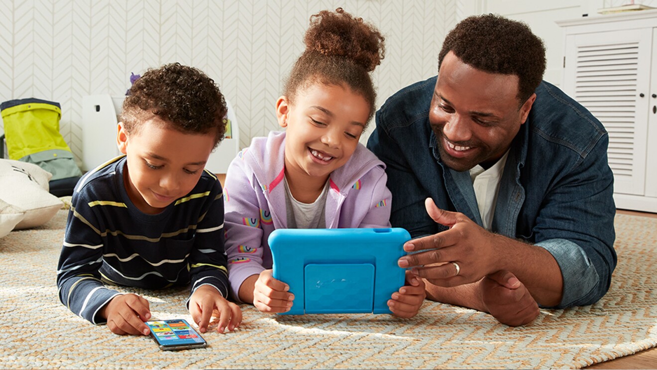
[[[499,269],[501,254],[494,248],[497,235],[464,214],[439,209],[431,198],[424,205],[429,216],[449,230],[407,241],[407,252],[430,250],[399,258],[399,267],[413,267],[413,274],[442,287],[474,283]]]

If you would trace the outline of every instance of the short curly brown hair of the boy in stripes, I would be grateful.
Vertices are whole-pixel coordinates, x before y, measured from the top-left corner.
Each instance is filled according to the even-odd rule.
[[[215,146],[226,131],[226,102],[214,80],[180,63],[150,68],[130,88],[121,120],[128,133],[139,131],[152,114],[183,133],[214,133]]]

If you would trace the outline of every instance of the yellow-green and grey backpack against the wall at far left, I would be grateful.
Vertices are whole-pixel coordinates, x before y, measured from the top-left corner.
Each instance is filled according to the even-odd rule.
[[[35,98],[15,99],[0,104],[0,111],[9,159],[37,164],[53,174],[51,193],[58,197],[71,195],[82,173],[59,133],[62,115],[59,103]],[[60,187],[64,189],[58,189]]]

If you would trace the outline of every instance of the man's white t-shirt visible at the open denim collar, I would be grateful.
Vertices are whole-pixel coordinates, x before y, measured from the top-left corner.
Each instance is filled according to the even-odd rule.
[[[474,195],[477,198],[479,214],[482,216],[484,229],[488,231],[491,231],[493,216],[495,215],[495,204],[497,204],[499,181],[502,179],[504,166],[507,164],[507,156],[509,156],[509,150],[488,170],[484,170],[480,165],[470,169],[470,179],[472,179]]]

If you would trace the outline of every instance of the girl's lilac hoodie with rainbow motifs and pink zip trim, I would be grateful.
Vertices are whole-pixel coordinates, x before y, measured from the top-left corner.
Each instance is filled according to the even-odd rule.
[[[226,174],[225,248],[228,277],[238,300],[242,282],[271,269],[267,238],[287,227],[284,177],[285,133],[256,137],[231,162]],[[344,166],[330,174],[325,218],[328,229],[390,227],[386,166],[358,144]]]

